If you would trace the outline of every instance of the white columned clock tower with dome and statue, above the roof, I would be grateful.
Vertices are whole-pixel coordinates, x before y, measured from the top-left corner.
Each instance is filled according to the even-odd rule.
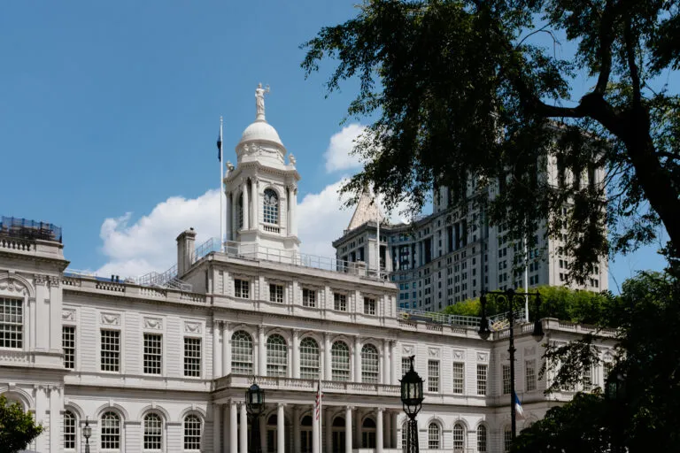
[[[255,89],[255,121],[236,144],[236,166],[227,163],[227,241],[244,247],[298,251],[296,160],[265,118],[269,87]],[[288,154],[288,163],[286,155]]]

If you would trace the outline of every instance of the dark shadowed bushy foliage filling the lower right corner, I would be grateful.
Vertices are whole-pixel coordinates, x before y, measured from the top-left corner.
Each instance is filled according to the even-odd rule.
[[[617,303],[605,305],[599,326],[618,326],[614,371],[621,376],[621,400],[588,395],[549,411],[518,437],[514,451],[621,451],[653,446],[675,451],[680,442],[680,285],[662,273],[639,273],[627,280]],[[550,390],[573,388],[583,370],[599,364],[587,335],[579,342],[549,348]],[[583,433],[583,434],[581,434]],[[583,440],[583,442],[581,442]],[[625,449],[624,449],[625,448]]]

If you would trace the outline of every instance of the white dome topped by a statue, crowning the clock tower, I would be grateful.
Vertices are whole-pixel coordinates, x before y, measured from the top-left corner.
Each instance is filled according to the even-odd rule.
[[[241,140],[236,145],[238,162],[259,161],[265,165],[284,165],[286,147],[283,146],[276,129],[265,119],[265,93],[269,87],[262,88],[262,84],[255,89],[255,104],[257,114],[255,121],[246,127]]]

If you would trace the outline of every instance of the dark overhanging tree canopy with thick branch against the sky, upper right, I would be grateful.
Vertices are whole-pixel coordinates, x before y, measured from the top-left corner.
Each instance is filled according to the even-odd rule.
[[[484,207],[530,247],[548,219],[548,234],[567,234],[577,281],[598,257],[652,241],[661,224],[677,257],[680,98],[650,81],[680,69],[678,9],[677,0],[365,0],[356,18],[303,44],[305,74],[334,58],[328,93],[358,77],[349,115],[376,118],[355,146],[367,165],[343,188],[349,203],[373,185],[389,209],[406,200],[418,211],[445,186],[461,209]],[[560,58],[537,35],[564,35],[576,53]],[[576,74],[593,86],[572,102]],[[566,179],[547,178],[545,165]],[[604,176],[587,178],[596,168]]]

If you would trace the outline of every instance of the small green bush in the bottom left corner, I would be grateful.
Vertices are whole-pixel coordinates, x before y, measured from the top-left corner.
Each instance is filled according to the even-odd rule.
[[[36,426],[33,415],[24,412],[20,403],[7,404],[7,398],[0,396],[0,446],[7,453],[26,449],[28,443],[42,433],[42,426]]]

